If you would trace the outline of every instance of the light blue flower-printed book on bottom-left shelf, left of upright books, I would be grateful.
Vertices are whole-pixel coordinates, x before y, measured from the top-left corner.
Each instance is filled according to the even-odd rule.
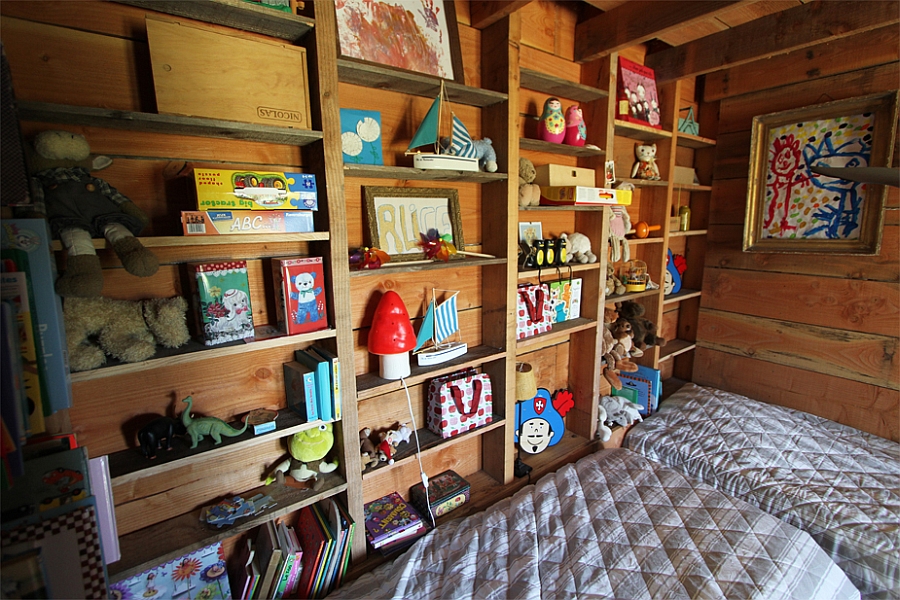
[[[109,591],[111,598],[231,598],[222,542],[114,583]]]

